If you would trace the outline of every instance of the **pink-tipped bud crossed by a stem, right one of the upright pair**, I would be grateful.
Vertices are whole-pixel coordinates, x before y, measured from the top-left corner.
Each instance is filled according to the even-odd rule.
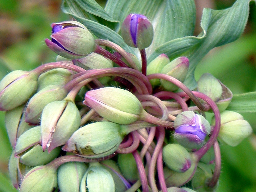
[[[187,57],[178,57],[165,65],[161,73],[172,76],[178,79],[180,82],[183,82],[188,73],[188,65],[189,61]],[[175,84],[164,79],[161,79],[160,82],[167,91],[175,91],[178,89]]]

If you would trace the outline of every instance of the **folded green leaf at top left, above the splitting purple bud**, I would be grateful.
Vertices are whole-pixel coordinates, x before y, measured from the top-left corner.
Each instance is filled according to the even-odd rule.
[[[89,19],[113,30],[119,29],[119,21],[113,20],[108,13],[94,0],[64,0],[62,9],[69,8],[79,18]],[[65,12],[65,11],[64,11]]]

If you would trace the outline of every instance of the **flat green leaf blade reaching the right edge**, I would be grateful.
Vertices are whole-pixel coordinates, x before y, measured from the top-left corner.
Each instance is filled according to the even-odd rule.
[[[236,94],[233,96],[227,110],[238,113],[256,112],[256,92]]]

